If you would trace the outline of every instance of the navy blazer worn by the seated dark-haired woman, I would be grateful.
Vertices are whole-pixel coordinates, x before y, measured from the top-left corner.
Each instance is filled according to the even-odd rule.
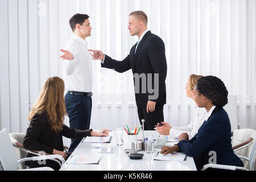
[[[215,107],[195,137],[189,141],[181,140],[177,145],[183,153],[200,160],[198,169],[209,163],[209,158],[213,156],[209,155],[210,151],[216,152],[217,164],[243,167],[242,160],[234,154],[230,137],[232,134],[228,114],[222,107]]]

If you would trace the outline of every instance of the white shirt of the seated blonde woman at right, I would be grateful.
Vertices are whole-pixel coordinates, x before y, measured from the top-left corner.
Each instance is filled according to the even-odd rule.
[[[195,137],[201,125],[205,121],[205,115],[207,115],[207,110],[204,107],[195,106],[195,114],[188,126],[172,126],[170,130],[170,136],[173,138],[179,137],[182,133],[187,133],[189,140]]]

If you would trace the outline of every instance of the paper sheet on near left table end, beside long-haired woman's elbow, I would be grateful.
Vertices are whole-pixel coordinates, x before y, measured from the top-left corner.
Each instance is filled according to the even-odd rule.
[[[100,164],[102,155],[73,155],[67,164]]]

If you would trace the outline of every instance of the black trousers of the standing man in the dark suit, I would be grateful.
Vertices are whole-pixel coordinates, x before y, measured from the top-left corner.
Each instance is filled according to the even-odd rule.
[[[156,104],[155,111],[150,112],[146,107],[138,107],[139,122],[142,125],[141,120],[144,119],[144,130],[154,130],[155,125],[164,121],[163,105],[159,106]]]

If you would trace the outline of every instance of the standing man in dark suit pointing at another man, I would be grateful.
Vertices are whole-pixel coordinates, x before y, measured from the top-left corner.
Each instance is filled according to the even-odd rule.
[[[143,11],[130,13],[128,29],[131,36],[137,35],[139,40],[124,60],[114,60],[101,51],[88,51],[93,52],[94,59],[101,59],[101,67],[115,69],[119,73],[132,69],[139,121],[145,120],[145,130],[154,130],[158,122],[164,121],[163,106],[166,104],[164,42],[147,30],[147,15]]]

